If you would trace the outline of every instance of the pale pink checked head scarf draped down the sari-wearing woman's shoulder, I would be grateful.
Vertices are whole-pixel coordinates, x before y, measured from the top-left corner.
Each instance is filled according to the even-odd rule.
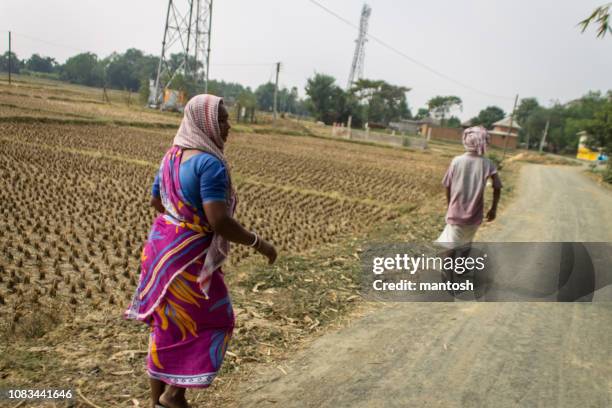
[[[225,142],[219,128],[219,104],[222,100],[214,95],[196,95],[191,98],[185,105],[183,121],[174,137],[173,144],[184,149],[201,150],[223,162],[229,181],[227,212],[228,215],[233,216],[238,199],[232,186],[230,167],[223,153]],[[229,242],[215,233],[198,281],[202,283],[207,276],[219,268],[228,254]]]

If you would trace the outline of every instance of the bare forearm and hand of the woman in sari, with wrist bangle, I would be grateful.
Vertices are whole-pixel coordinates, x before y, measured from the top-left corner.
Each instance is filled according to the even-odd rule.
[[[227,214],[226,203],[211,201],[204,203],[204,213],[213,230],[223,238],[242,245],[252,245],[256,235],[247,231],[238,221]],[[276,260],[276,249],[272,244],[261,237],[257,237],[257,252],[268,258],[270,264]]]

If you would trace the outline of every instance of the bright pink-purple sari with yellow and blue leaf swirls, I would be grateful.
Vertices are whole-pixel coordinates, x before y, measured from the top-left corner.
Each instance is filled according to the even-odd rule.
[[[208,387],[223,362],[234,312],[221,268],[202,273],[214,234],[183,196],[181,159],[181,148],[174,146],[162,162],[166,212],[155,219],[143,248],[140,282],[125,315],[151,327],[150,377]]]

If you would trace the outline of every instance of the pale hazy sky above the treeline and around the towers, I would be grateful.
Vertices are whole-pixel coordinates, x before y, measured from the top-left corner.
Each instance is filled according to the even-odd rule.
[[[361,0],[319,1],[359,23]],[[413,112],[432,96],[458,95],[462,119],[487,105],[508,112],[516,93],[548,104],[612,89],[612,37],[596,39],[594,30],[580,34],[576,27],[604,2],[369,0],[372,35],[471,88],[503,97],[440,78],[374,41],[366,45],[365,76],[412,88]],[[20,58],[36,52],[64,61],[82,50],[107,56],[131,47],[157,55],[167,3],[0,0],[0,52],[10,29]],[[281,61],[281,85],[298,86],[301,95],[314,72],[333,75],[344,87],[356,37],[356,29],[308,0],[215,0],[211,78],[255,87],[270,80],[273,63]]]

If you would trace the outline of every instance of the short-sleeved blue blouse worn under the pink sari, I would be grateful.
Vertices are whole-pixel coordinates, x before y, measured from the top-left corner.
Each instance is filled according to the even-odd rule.
[[[181,191],[189,204],[204,213],[203,203],[225,201],[229,186],[223,162],[209,153],[199,153],[181,163]],[[159,172],[153,181],[152,195],[159,197]]]

